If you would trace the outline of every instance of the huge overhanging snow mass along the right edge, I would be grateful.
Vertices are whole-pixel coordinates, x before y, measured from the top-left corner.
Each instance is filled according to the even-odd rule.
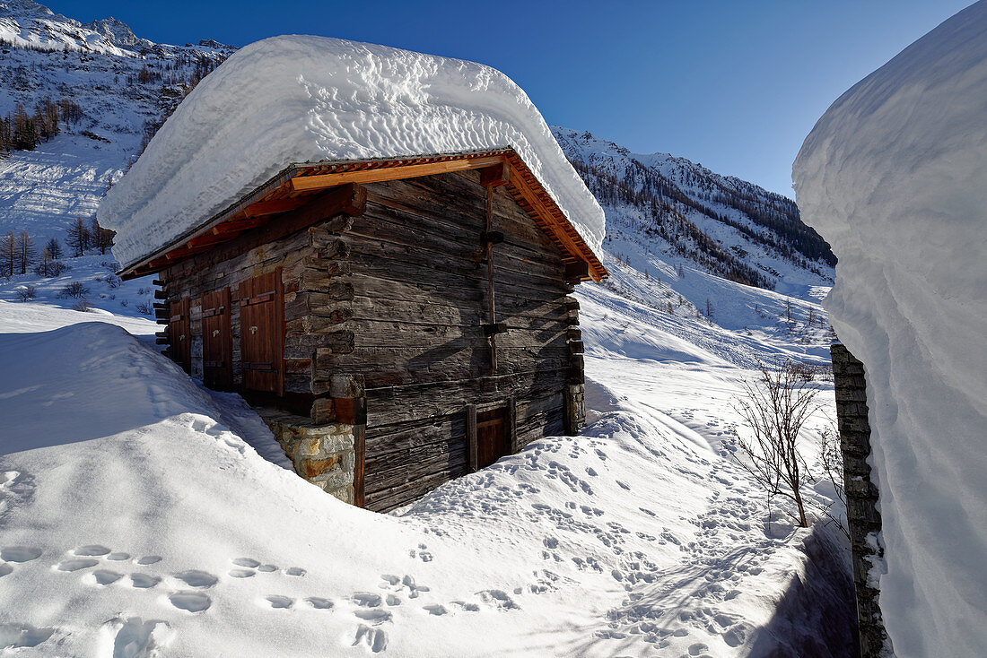
[[[844,94],[794,168],[868,375],[898,656],[987,646],[987,2]]]

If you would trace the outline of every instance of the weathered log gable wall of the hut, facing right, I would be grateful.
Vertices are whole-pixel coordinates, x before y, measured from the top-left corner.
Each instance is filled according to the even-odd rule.
[[[505,192],[493,198],[497,369],[478,173],[367,185],[346,245],[352,350],[326,353],[316,379],[361,374],[367,397],[365,504],[407,504],[468,470],[465,409],[515,401],[515,449],[566,431],[574,311],[562,255]],[[339,304],[320,310],[339,311]],[[580,380],[581,381],[581,380]]]

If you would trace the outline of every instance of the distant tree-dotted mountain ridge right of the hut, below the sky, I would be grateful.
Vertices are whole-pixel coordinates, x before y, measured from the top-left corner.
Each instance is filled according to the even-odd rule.
[[[603,204],[607,241],[637,242],[740,283],[804,297],[832,283],[836,259],[798,219],[795,203],[685,158],[647,155],[554,127],[572,165]]]

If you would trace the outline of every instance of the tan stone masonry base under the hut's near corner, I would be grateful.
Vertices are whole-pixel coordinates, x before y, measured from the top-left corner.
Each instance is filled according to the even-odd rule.
[[[343,502],[353,504],[353,426],[313,424],[304,416],[259,409],[295,473]]]

